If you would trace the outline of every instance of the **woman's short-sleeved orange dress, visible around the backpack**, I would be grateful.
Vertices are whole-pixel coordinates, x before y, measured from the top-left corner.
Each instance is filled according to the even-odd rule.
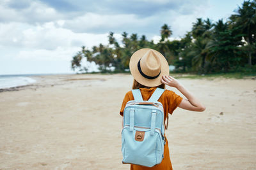
[[[152,94],[155,90],[156,90],[156,87],[151,87],[150,89],[140,88],[143,100],[147,101],[152,96]],[[128,101],[132,101],[132,100],[134,100],[134,97],[132,95],[132,91],[129,91],[125,94],[124,101],[122,103],[122,107],[120,110],[121,116],[124,115],[125,104]],[[172,114],[173,111],[177,108],[177,106],[179,106],[180,102],[182,101],[182,97],[175,94],[175,92],[173,92],[171,90],[164,90],[162,96],[158,99],[158,101],[163,104],[164,121],[165,121],[168,113]],[[170,160],[167,139],[166,139],[166,145],[164,145],[164,159],[162,160],[162,162],[160,164],[157,164],[154,167],[145,167],[145,166],[138,166],[138,165],[131,164],[131,170],[147,170],[147,169],[150,169],[150,170],[156,170],[156,169],[170,170],[170,169],[172,169],[172,163]]]

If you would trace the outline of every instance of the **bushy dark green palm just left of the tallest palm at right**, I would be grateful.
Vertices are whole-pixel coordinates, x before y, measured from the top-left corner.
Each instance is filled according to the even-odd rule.
[[[223,23],[223,20],[216,22],[213,39],[207,44],[209,53],[206,60],[214,66],[212,69],[227,72],[231,67],[237,67],[238,64],[241,66],[239,45],[242,45],[243,34],[237,34],[237,29],[228,27],[227,22]]]

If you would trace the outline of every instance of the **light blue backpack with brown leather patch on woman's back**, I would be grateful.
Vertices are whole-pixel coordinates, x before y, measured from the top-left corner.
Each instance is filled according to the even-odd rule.
[[[160,164],[164,154],[164,110],[157,101],[164,89],[143,101],[140,89],[132,90],[134,101],[124,109],[122,130],[123,163],[152,167]]]

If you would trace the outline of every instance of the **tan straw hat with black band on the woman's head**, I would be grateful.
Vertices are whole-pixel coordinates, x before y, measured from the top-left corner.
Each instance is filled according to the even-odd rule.
[[[161,53],[150,48],[134,52],[129,67],[134,79],[147,87],[161,85],[162,76],[169,75],[167,60]]]

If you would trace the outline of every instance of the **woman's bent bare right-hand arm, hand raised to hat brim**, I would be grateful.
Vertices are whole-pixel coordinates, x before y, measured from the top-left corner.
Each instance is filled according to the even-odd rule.
[[[183,87],[178,80],[173,78],[172,76],[163,76],[162,83],[170,86],[175,87],[179,90],[187,99],[182,99],[181,103],[179,104],[179,108],[184,110],[191,110],[191,111],[204,111],[205,106],[198,101],[185,87]]]

